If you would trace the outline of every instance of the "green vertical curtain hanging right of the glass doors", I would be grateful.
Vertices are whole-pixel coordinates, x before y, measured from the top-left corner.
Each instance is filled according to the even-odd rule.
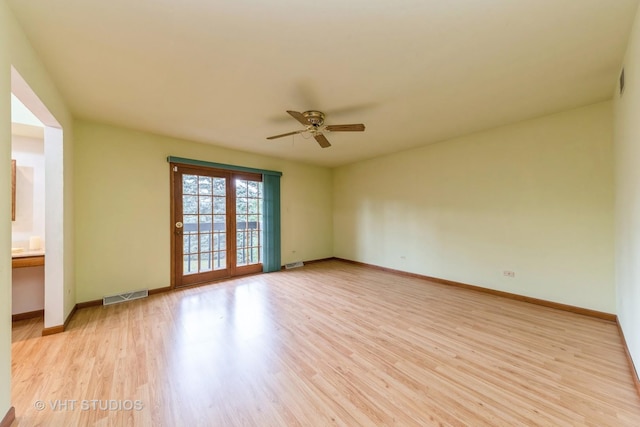
[[[264,191],[264,247],[262,271],[279,271],[280,251],[280,175],[262,175]]]

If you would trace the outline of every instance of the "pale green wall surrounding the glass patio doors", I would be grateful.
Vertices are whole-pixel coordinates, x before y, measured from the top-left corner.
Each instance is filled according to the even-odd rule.
[[[281,171],[282,262],[332,256],[329,169],[86,121],[74,135],[78,302],[170,285],[170,155]]]

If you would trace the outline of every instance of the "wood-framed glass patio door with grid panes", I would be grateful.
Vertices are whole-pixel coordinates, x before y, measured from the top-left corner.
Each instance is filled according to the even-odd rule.
[[[174,285],[262,271],[262,175],[171,168]]]

